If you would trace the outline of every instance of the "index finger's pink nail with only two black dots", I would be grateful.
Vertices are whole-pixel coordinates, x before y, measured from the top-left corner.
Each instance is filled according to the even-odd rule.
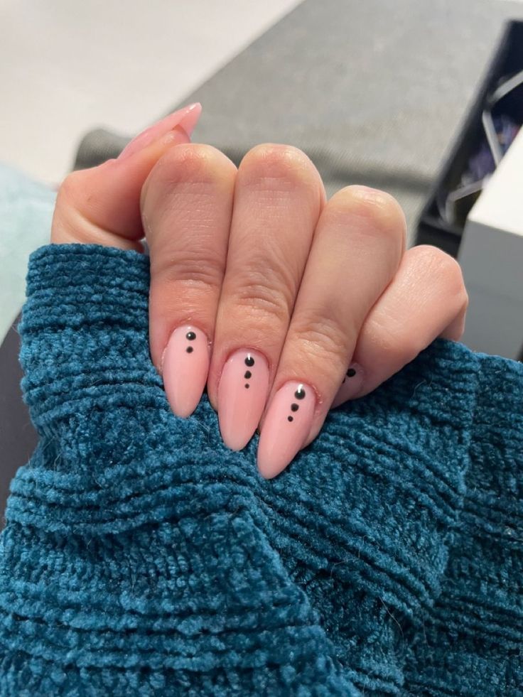
[[[193,325],[175,329],[163,352],[162,376],[176,416],[190,416],[198,406],[209,372],[207,336]]]

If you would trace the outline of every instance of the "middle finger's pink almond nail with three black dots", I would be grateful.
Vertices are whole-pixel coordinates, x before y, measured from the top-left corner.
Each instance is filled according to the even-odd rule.
[[[235,351],[218,385],[218,421],[227,448],[242,450],[262,417],[269,394],[269,364],[262,353]]]

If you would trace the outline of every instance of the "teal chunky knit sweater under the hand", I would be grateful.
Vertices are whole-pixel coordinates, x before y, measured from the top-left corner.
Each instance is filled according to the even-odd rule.
[[[274,480],[173,416],[149,260],[31,256],[0,695],[523,695],[523,364],[438,339]]]

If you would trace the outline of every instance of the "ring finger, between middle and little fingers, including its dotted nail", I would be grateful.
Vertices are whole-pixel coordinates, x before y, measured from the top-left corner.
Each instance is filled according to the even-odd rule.
[[[264,477],[320,431],[365,316],[397,271],[405,228],[392,196],[367,187],[348,186],[325,206],[261,424]]]

